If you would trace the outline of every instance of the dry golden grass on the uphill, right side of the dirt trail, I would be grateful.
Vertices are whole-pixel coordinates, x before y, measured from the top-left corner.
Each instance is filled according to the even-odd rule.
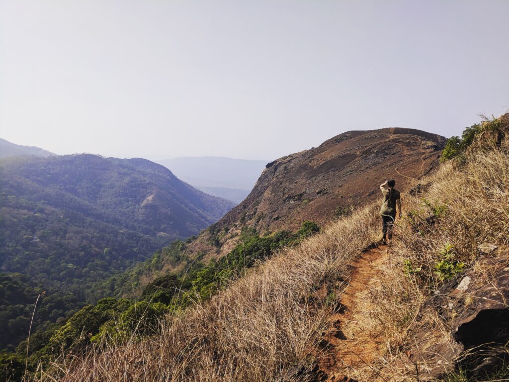
[[[483,242],[501,248],[509,244],[509,155],[496,149],[471,152],[463,160],[445,163],[421,181],[421,194],[404,197],[407,216],[395,227],[390,262],[380,269],[380,282],[370,290],[376,308],[370,322],[363,323],[378,328],[386,347],[377,365],[351,370],[359,380],[415,381],[406,351],[418,351],[422,338],[415,336],[422,329],[431,336],[426,339],[428,344],[453,346],[449,322],[425,305],[443,285],[435,265],[447,243],[454,245],[453,260],[473,269],[478,288],[493,282],[493,269],[476,262],[477,247]],[[405,261],[410,261],[410,267]],[[414,272],[409,275],[406,269]],[[426,364],[427,356],[415,356],[421,358],[421,381],[434,380],[426,371],[436,368],[437,361],[442,362],[444,372],[453,366],[440,357]],[[375,374],[381,376],[375,378]]]

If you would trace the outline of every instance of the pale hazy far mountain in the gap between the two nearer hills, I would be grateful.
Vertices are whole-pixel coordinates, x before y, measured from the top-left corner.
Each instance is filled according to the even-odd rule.
[[[157,161],[192,186],[237,203],[249,194],[267,162],[216,156]]]

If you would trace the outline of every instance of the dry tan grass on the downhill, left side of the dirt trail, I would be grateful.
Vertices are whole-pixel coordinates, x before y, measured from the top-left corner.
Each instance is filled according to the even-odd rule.
[[[316,292],[346,279],[349,260],[379,238],[377,210],[366,207],[281,252],[163,322],[160,335],[59,360],[38,380],[305,380],[332,312]]]

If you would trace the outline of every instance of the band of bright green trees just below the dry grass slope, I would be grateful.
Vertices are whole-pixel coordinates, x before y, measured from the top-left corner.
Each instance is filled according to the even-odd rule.
[[[232,251],[207,264],[199,258],[179,258],[186,242],[178,240],[156,253],[145,265],[156,263],[161,252],[165,252],[173,254],[182,262],[182,270],[149,283],[138,298],[103,298],[97,304],[86,305],[67,318],[55,320],[54,324],[41,326],[31,336],[29,366],[33,370],[39,362],[49,362],[62,349],[79,352],[89,345],[104,344],[104,341],[121,343],[132,335],[154,334],[158,328],[157,321],[164,315],[178,313],[196,301],[207,300],[258,261],[266,260],[280,248],[291,247],[319,231],[320,228],[312,222],[304,222],[294,233],[278,231],[265,236],[258,235],[253,229],[244,228],[239,244]],[[37,291],[40,289],[29,293],[33,302]],[[46,298],[48,296],[43,296],[39,309],[48,306],[44,302]],[[33,309],[33,306],[32,303],[30,308]],[[39,309],[37,315],[40,314]],[[24,314],[30,319],[31,312]],[[3,323],[0,322],[0,325]],[[0,353],[0,372],[4,373],[0,374],[0,378],[20,375],[24,368],[26,346],[24,340],[15,351]]]

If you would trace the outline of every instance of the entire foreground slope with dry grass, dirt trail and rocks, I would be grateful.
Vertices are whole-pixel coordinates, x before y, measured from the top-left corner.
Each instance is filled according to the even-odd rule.
[[[155,335],[105,341],[38,379],[506,380],[508,142],[509,115],[479,124],[456,159],[415,180],[388,249],[373,250],[378,205],[366,206]]]

